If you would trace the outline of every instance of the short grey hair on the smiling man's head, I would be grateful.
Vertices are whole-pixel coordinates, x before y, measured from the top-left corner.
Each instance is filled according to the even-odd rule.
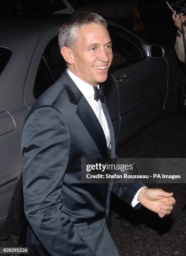
[[[90,11],[77,11],[70,15],[58,31],[58,40],[60,49],[65,47],[72,47],[78,40],[78,33],[76,31],[83,25],[90,23],[98,23],[107,28],[106,20]]]

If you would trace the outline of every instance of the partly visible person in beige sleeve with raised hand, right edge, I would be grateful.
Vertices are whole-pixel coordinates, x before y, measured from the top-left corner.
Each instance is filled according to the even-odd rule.
[[[181,24],[186,20],[186,15],[184,15],[183,13],[180,13],[180,15],[178,14],[177,16],[175,16],[175,14],[176,14],[176,11],[172,15],[174,24],[178,28],[176,43],[175,43],[176,54],[180,61],[185,62],[185,50],[184,50],[184,45],[183,45],[183,35],[181,32]],[[186,33],[185,26],[183,26],[183,29]]]

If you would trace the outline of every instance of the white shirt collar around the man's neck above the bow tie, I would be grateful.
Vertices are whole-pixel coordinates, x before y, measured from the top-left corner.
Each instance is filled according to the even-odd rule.
[[[94,95],[94,89],[92,85],[77,77],[75,74],[73,74],[73,72],[70,71],[70,69],[67,69],[67,73],[69,74],[75,85],[78,87],[80,92],[82,92],[85,99],[90,99]],[[99,84],[97,87],[99,89]]]

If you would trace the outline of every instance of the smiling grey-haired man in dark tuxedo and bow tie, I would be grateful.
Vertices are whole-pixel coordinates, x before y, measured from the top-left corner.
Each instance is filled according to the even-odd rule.
[[[59,30],[68,69],[37,100],[23,129],[23,192],[31,255],[118,256],[107,224],[111,191],[169,214],[173,193],[138,184],[83,184],[81,158],[115,157],[111,119],[94,88],[113,59],[106,21],[75,12]],[[97,92],[99,94],[99,92]],[[102,102],[103,101],[103,102]],[[109,150],[108,150],[109,149]]]

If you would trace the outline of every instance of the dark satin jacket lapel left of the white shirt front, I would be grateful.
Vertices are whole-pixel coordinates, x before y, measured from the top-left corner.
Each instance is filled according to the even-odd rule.
[[[87,131],[90,133],[90,136],[96,143],[101,156],[103,158],[107,158],[108,149],[106,137],[101,124],[99,123],[98,118],[96,117],[92,108],[88,104],[88,101],[85,99],[73,80],[69,77],[67,71],[63,73],[61,80],[63,81],[65,89],[68,93],[70,102],[78,106],[75,111],[76,114],[82,121],[83,125],[85,125]]]

